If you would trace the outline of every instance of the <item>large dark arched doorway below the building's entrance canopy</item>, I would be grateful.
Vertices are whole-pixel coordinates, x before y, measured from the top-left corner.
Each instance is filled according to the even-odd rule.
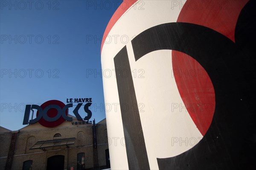
[[[56,155],[47,158],[47,170],[64,170],[64,156]]]

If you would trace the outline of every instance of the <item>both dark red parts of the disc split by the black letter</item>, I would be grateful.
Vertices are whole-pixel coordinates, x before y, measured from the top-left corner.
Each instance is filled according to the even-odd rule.
[[[247,1],[209,1],[207,6],[206,2],[187,0],[177,22],[206,26],[235,42],[236,22]],[[195,59],[182,52],[172,51],[172,65],[174,70],[186,72],[182,76],[175,74],[175,81],[189,115],[204,136],[214,114],[214,109],[210,108],[215,107],[215,92],[212,82],[205,69]],[[192,70],[197,71],[196,77],[189,75],[189,71]],[[201,73],[203,75],[200,75]],[[197,110],[191,107],[195,107],[194,104],[197,105]]]

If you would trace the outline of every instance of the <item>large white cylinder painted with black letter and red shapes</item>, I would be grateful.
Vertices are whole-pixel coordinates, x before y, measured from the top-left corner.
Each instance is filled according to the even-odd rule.
[[[254,7],[252,0],[119,6],[101,52],[111,169],[255,167]]]

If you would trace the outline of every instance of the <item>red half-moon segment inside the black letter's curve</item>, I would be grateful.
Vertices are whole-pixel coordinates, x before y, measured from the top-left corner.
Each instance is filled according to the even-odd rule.
[[[200,133],[207,132],[215,110],[215,91],[205,69],[192,57],[172,51],[173,74],[190,117]]]

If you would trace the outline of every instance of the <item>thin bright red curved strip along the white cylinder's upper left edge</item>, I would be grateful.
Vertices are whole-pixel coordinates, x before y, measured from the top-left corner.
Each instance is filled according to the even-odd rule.
[[[110,21],[108,22],[108,26],[105,29],[103,38],[102,38],[102,44],[100,52],[102,52],[103,45],[106,40],[106,36],[109,34],[110,30],[113,28],[113,26],[116,24],[117,20],[134,4],[137,0],[124,0],[121,5],[116,9],[116,12],[111,17]]]

